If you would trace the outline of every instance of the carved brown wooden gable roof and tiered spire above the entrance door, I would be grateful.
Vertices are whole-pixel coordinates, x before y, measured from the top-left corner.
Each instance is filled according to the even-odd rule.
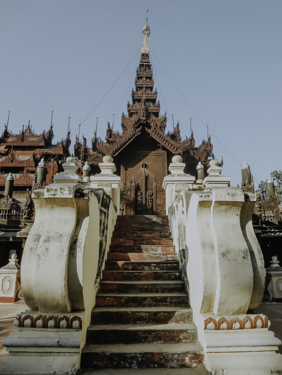
[[[92,138],[92,148],[86,146],[86,138],[82,144],[77,137],[76,157],[95,164],[101,162],[104,155],[117,155],[144,129],[172,153],[183,155],[188,151],[203,164],[207,163],[208,156],[212,156],[210,137],[207,141],[203,140],[199,147],[195,147],[193,133],[189,138],[181,139],[179,123],[174,131],[165,133],[167,117],[166,113],[159,114],[160,103],[157,102],[157,90],[154,90],[153,71],[148,53],[141,54],[136,72],[135,90],[132,89],[131,97],[132,103],[127,104],[128,114],[122,113],[121,116],[122,133],[113,131],[108,122],[105,140],[98,138],[95,133]]]

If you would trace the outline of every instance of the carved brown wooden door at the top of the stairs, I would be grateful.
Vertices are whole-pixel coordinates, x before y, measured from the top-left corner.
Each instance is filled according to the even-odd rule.
[[[162,183],[166,171],[166,152],[163,150],[127,154],[121,163],[122,214],[165,214]]]

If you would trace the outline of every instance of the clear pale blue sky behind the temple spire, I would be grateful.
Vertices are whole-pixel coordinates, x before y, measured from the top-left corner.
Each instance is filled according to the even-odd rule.
[[[241,183],[250,165],[255,186],[281,167],[281,0],[13,0],[0,3],[0,133],[29,120],[50,127],[71,152],[78,134],[91,144],[107,122],[121,130],[131,100],[149,9],[148,38],[160,114],[167,130],[190,119],[199,145],[209,133],[222,174]]]

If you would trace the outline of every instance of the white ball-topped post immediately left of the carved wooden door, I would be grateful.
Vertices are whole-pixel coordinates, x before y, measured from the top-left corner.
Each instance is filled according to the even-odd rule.
[[[101,173],[90,177],[91,187],[102,187],[104,191],[111,196],[115,206],[117,207],[118,215],[120,214],[120,189],[122,182],[120,176],[114,174],[116,166],[113,163],[113,158],[110,155],[103,157],[103,162],[99,163]]]

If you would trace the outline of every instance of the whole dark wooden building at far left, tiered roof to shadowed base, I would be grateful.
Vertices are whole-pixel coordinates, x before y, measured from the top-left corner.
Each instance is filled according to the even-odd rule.
[[[52,144],[53,124],[48,131],[36,134],[29,122],[15,134],[8,130],[8,123],[0,136],[0,267],[9,262],[14,252],[21,262],[25,239],[34,219],[31,190],[33,186],[39,187],[36,176],[40,160],[44,157],[47,167],[43,183],[53,183],[54,174],[63,170],[62,162],[69,156],[71,144],[69,134],[61,142]],[[14,178],[11,196],[5,195],[9,173]]]

